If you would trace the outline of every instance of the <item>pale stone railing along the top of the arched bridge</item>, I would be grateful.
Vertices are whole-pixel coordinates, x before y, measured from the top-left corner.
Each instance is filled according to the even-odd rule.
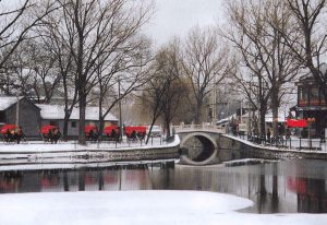
[[[172,129],[174,132],[193,132],[193,131],[208,131],[208,132],[219,132],[219,133],[226,133],[226,129],[221,128],[216,125],[179,125],[179,126],[172,126]]]

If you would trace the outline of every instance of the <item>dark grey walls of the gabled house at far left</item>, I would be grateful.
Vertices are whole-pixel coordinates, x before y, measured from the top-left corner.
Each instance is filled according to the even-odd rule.
[[[16,123],[16,106],[14,104],[5,110],[7,123]],[[26,98],[22,98],[19,102],[19,125],[26,135],[39,135],[40,111]]]

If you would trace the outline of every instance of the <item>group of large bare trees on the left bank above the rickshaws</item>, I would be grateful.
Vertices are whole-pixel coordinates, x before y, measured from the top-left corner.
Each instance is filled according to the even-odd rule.
[[[84,144],[90,93],[99,96],[104,127],[104,118],[113,105],[145,83],[150,50],[141,28],[150,14],[152,3],[131,0],[25,0],[21,8],[3,10],[2,92],[46,103],[55,92],[60,93],[65,115],[63,135],[77,105],[78,141]],[[109,92],[116,93],[113,99],[108,99]]]

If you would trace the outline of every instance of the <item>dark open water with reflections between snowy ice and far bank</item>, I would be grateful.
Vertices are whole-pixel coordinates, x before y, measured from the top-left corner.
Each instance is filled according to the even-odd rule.
[[[203,190],[251,199],[243,212],[327,213],[327,163],[291,161],[239,167],[101,168],[0,173],[0,192]]]

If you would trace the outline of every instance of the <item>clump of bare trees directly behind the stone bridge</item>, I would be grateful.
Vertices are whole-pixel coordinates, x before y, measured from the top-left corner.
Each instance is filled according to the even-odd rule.
[[[207,121],[204,109],[214,86],[233,66],[221,42],[217,29],[195,26],[183,42],[173,38],[157,51],[150,64],[153,79],[141,96],[141,105],[148,106],[143,114],[149,115],[152,126],[161,119],[170,134],[173,121]]]

